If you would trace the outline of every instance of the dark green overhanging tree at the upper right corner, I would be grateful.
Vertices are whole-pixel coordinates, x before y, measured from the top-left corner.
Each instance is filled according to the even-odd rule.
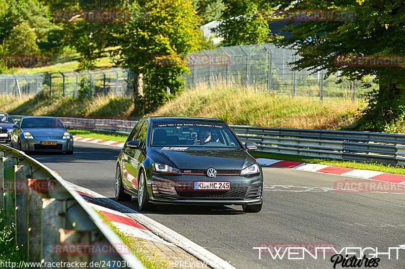
[[[308,21],[287,26],[293,37],[278,40],[278,46],[298,49],[302,58],[296,61],[297,70],[310,68],[314,72],[327,69],[326,77],[337,71],[342,76],[363,81],[374,77],[379,88],[369,96],[368,107],[359,121],[360,128],[369,130],[394,130],[392,126],[405,117],[405,69],[403,67],[336,66],[339,55],[403,55],[405,48],[405,5],[395,0],[340,0],[305,2],[273,1],[280,8],[294,5],[294,9],[351,10],[355,19],[345,21]],[[341,12],[341,11],[340,11]],[[342,13],[347,14],[347,13]],[[326,33],[311,42],[301,36]]]

